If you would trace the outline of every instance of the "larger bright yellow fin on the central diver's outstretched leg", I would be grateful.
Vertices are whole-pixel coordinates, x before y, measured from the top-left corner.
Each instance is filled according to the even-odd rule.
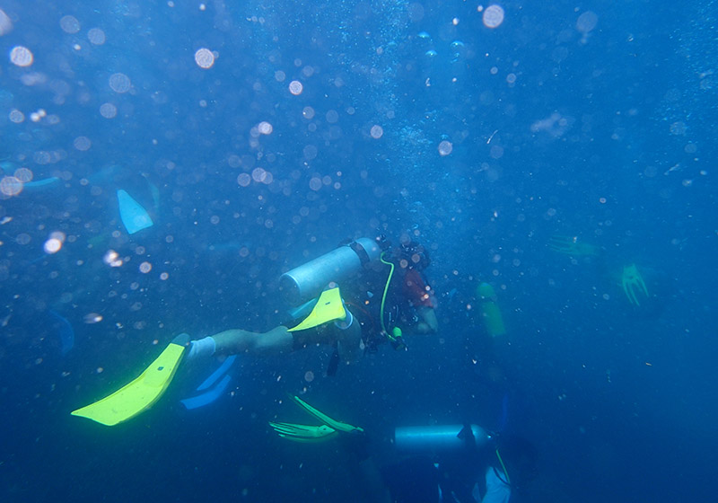
[[[114,426],[149,409],[170,385],[188,341],[187,334],[175,337],[134,381],[98,402],[73,410],[72,415]]]

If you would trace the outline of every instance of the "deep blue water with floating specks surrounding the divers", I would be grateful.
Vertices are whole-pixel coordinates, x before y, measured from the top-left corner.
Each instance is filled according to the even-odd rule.
[[[0,3],[0,499],[358,500],[337,443],[267,427],[311,420],[287,393],[380,460],[396,426],[520,434],[523,500],[714,499],[718,5],[500,4],[489,28],[458,0]],[[127,234],[120,189],[152,227]],[[380,233],[429,246],[438,335],[335,377],[329,348],[243,355],[206,408],[180,372],[123,425],[70,416],[181,331],[267,330],[282,272]]]

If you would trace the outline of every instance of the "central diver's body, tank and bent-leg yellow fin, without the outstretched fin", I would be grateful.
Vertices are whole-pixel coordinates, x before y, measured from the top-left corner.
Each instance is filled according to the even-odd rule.
[[[221,331],[193,340],[188,357],[281,354],[326,343],[335,347],[334,358],[352,363],[363,351],[374,352],[387,340],[395,349],[406,349],[405,331],[425,334],[439,328],[423,274],[429,264],[425,247],[413,241],[396,249],[383,236],[344,243],[280,278],[280,289],[294,304],[337,286],[293,310],[292,318],[297,319],[312,308],[304,322],[294,328],[289,328],[291,323],[280,324],[263,333]],[[383,288],[381,293],[377,287]]]

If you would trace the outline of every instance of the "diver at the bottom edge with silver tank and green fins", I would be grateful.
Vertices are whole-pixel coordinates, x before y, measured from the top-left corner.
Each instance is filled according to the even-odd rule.
[[[500,436],[477,425],[398,427],[393,445],[401,459],[380,467],[363,428],[332,419],[301,398],[293,402],[320,426],[270,421],[280,436],[317,443],[336,438],[361,477],[364,500],[395,503],[508,503],[537,473],[528,440]]]

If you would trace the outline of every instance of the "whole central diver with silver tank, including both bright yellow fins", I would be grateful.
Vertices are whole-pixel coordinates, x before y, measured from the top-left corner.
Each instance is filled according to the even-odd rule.
[[[282,275],[281,293],[289,304],[298,305],[285,322],[266,332],[230,329],[197,340],[180,334],[134,381],[72,414],[106,426],[132,419],[160,399],[183,360],[225,357],[197,387],[202,393],[182,401],[194,409],[221,396],[236,355],[279,355],[327,344],[334,349],[327,371],[333,375],[340,362],[354,363],[382,342],[407,349],[405,331],[438,330],[433,296],[423,276],[429,263],[425,247],[412,241],[396,249],[383,236],[343,243]]]

